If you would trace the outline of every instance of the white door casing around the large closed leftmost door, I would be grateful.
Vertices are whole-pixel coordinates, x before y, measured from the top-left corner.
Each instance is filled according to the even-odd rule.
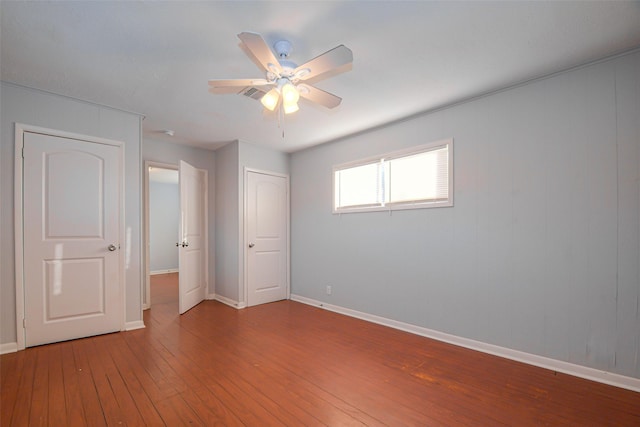
[[[24,158],[22,150],[24,148],[24,134],[39,133],[58,138],[74,139],[91,144],[112,145],[118,148],[118,190],[120,211],[118,212],[118,238],[120,245],[128,248],[125,238],[125,197],[124,197],[124,143],[113,139],[101,138],[97,136],[83,135],[74,132],[66,132],[57,129],[32,126],[23,123],[15,123],[15,172],[14,172],[14,240],[15,240],[15,271],[16,271],[16,343],[17,350],[24,350],[26,345],[25,334],[25,292],[24,292]],[[125,250],[126,251],[126,250]],[[125,292],[125,251],[118,251],[118,292],[120,292],[120,330],[125,329],[126,324],[126,292]]]

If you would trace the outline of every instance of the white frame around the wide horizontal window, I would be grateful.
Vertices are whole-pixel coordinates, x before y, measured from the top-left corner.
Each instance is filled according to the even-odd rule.
[[[406,202],[382,202],[382,203],[374,203],[368,205],[358,205],[358,206],[350,206],[350,207],[337,207],[336,206],[336,172],[355,168],[358,166],[363,166],[367,164],[372,164],[376,162],[387,162],[394,159],[399,159],[403,157],[409,157],[416,154],[422,154],[429,151],[437,150],[440,147],[447,147],[448,151],[448,193],[449,197],[446,200],[417,200],[417,201],[406,201]],[[391,152],[387,152],[384,154],[379,154],[376,156],[370,156],[363,159],[354,160],[351,162],[341,163],[338,165],[334,165],[331,173],[331,205],[332,212],[334,214],[343,214],[343,213],[355,213],[355,212],[386,212],[386,211],[395,211],[395,210],[407,210],[407,209],[429,209],[429,208],[441,208],[441,207],[452,207],[453,206],[453,138],[445,138],[438,141],[429,142],[427,144],[421,144],[401,150],[395,150]],[[387,189],[388,191],[388,189]]]

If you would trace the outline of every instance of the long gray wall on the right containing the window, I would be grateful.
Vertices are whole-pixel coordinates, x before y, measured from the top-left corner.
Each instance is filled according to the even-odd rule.
[[[333,165],[447,137],[454,207],[331,213]],[[294,153],[291,178],[294,294],[640,378],[640,53]]]

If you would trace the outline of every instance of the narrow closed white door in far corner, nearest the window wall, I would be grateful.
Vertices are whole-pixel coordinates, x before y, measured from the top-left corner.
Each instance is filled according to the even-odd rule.
[[[247,305],[287,298],[287,178],[247,173]]]

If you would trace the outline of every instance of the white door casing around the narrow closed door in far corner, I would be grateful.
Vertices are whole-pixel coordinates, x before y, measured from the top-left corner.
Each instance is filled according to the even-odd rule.
[[[259,174],[263,174],[263,175],[271,175],[271,176],[276,176],[279,178],[284,178],[285,179],[285,188],[286,188],[286,204],[287,204],[287,209],[286,209],[286,233],[287,236],[285,238],[285,243],[286,243],[286,251],[287,251],[287,256],[286,256],[286,262],[287,262],[287,266],[286,266],[286,299],[290,299],[291,298],[291,220],[290,220],[290,210],[291,210],[291,202],[289,200],[289,194],[291,193],[290,188],[289,188],[289,175],[288,174],[284,174],[284,173],[278,173],[278,172],[273,172],[273,171],[267,171],[267,170],[263,170],[263,169],[254,169],[254,168],[248,168],[245,167],[244,168],[244,183],[243,183],[243,193],[244,193],[244,197],[243,197],[243,206],[242,206],[242,216],[243,216],[243,221],[242,221],[242,232],[241,232],[241,236],[240,236],[240,259],[242,260],[243,266],[242,266],[242,281],[243,281],[243,292],[244,292],[244,296],[242,298],[242,303],[241,306],[242,307],[248,307],[249,304],[249,251],[247,251],[247,234],[248,234],[248,229],[249,229],[249,216],[247,215],[247,206],[249,203],[249,173],[253,172],[253,173],[259,173]]]

